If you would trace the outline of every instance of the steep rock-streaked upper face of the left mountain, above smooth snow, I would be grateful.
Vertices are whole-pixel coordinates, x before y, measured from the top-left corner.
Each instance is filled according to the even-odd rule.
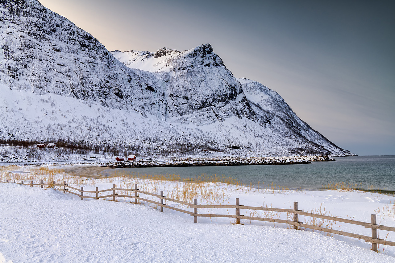
[[[2,1],[0,21],[0,81],[11,89],[164,114],[163,96],[147,89],[161,90],[152,74],[125,67],[96,38],[38,1]]]

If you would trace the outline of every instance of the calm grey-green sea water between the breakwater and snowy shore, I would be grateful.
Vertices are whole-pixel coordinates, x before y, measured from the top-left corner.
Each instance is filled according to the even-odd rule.
[[[228,175],[244,184],[270,188],[268,184],[290,189],[320,190],[330,182],[353,182],[365,188],[395,190],[395,156],[355,156],[335,158],[337,162],[298,165],[246,165],[209,167],[122,168],[139,174],[177,174],[182,178],[199,174]]]

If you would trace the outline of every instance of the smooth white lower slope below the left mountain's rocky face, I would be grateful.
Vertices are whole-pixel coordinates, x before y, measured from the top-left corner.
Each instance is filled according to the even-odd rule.
[[[166,154],[172,141],[204,143],[153,115],[110,109],[94,101],[58,94],[10,90],[2,84],[0,93],[0,139],[82,139],[88,145],[102,146],[116,142],[130,146],[129,149],[149,150],[154,155]]]

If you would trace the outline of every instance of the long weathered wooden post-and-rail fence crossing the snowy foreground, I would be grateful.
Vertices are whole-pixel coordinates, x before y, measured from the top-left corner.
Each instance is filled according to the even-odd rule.
[[[0,183],[1,182],[2,181],[0,180]],[[8,180],[6,180],[6,182],[8,182]],[[235,205],[198,205],[197,199],[194,199],[194,203],[192,204],[192,203],[188,203],[188,202],[184,202],[184,201],[166,197],[163,195],[163,191],[160,192],[160,195],[155,194],[155,193],[141,191],[141,190],[137,189],[137,184],[134,185],[134,189],[116,188],[116,185],[113,184],[113,188],[110,188],[110,189],[105,189],[105,190],[99,191],[98,188],[96,187],[95,191],[87,191],[87,190],[84,190],[83,186],[81,186],[81,189],[68,186],[66,184],[66,181],[64,181],[63,184],[55,184],[55,181],[53,181],[52,184],[45,184],[41,180],[41,183],[34,184],[31,181],[30,184],[29,183],[26,184],[23,181],[15,182],[15,180],[13,180],[13,183],[23,184],[23,185],[28,185],[28,186],[41,186],[41,188],[43,188],[44,186],[54,187],[55,189],[57,189],[59,191],[63,191],[63,193],[67,192],[67,193],[71,193],[73,195],[77,195],[78,197],[81,197],[81,200],[83,200],[84,198],[102,199],[102,198],[112,197],[112,201],[116,201],[116,197],[131,198],[131,199],[134,199],[134,203],[136,203],[136,204],[137,204],[137,200],[140,200],[140,201],[144,201],[147,203],[152,203],[152,204],[158,205],[160,207],[160,212],[163,212],[163,209],[167,208],[167,209],[171,209],[171,210],[189,214],[191,217],[194,218],[195,223],[198,223],[198,217],[235,218],[236,224],[240,224],[240,219],[257,220],[257,221],[264,221],[264,222],[288,224],[288,225],[292,225],[293,229],[301,229],[301,227],[303,227],[305,229],[318,230],[318,231],[322,231],[322,232],[326,232],[326,233],[342,235],[342,236],[346,236],[346,237],[353,237],[356,239],[362,239],[362,240],[365,240],[365,242],[372,243],[372,250],[374,250],[376,252],[378,252],[378,244],[382,244],[382,245],[386,245],[386,246],[395,246],[395,242],[393,242],[393,241],[387,241],[387,240],[378,238],[377,230],[380,229],[380,230],[384,230],[384,231],[394,231],[395,232],[395,227],[378,225],[377,221],[376,221],[376,214],[371,215],[371,222],[369,223],[369,222],[361,222],[361,221],[350,220],[350,219],[345,219],[345,218],[338,218],[335,216],[327,216],[327,215],[323,215],[323,214],[314,214],[314,213],[310,213],[310,212],[303,212],[303,210],[298,209],[297,202],[293,202],[293,209],[244,206],[244,205],[240,205],[239,198],[236,198]],[[62,188],[56,188],[56,186],[61,186]],[[76,192],[73,192],[71,190],[74,190]],[[134,192],[134,195],[123,195],[123,194],[117,193],[117,191]],[[77,192],[79,192],[79,193],[77,193]],[[99,195],[99,193],[104,193],[104,192],[112,192],[112,193],[107,194],[107,195]],[[84,195],[84,193],[94,193],[94,196]],[[138,193],[150,195],[150,196],[156,197],[159,200],[157,202],[157,201],[145,199],[145,198],[139,197]],[[187,205],[190,208],[193,208],[194,212],[184,210],[184,209],[179,209],[176,207],[171,207],[169,205],[166,205],[164,203],[164,200],[171,201],[174,203],[179,203],[182,205]],[[207,208],[207,209],[215,209],[215,208],[229,209],[229,208],[231,208],[231,209],[236,210],[236,214],[199,214],[198,208]],[[284,212],[284,213],[288,213],[288,214],[293,214],[293,220],[264,218],[264,217],[256,217],[256,216],[244,216],[244,215],[240,214],[240,209],[271,211],[271,212]],[[372,236],[369,237],[369,236],[365,236],[365,235],[349,233],[349,232],[345,232],[345,231],[321,227],[318,225],[303,224],[303,222],[298,221],[298,215],[309,216],[311,218],[319,218],[319,219],[324,219],[324,220],[331,220],[331,221],[335,221],[335,222],[342,222],[342,223],[347,223],[347,224],[361,225],[365,228],[370,228],[372,231]]]

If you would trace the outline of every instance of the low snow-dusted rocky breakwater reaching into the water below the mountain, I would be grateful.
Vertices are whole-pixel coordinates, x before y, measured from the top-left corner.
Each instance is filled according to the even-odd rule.
[[[280,165],[307,164],[311,162],[335,161],[327,156],[281,156],[281,157],[173,157],[169,160],[123,161],[104,163],[103,167],[185,167],[185,166],[232,166],[232,165]]]

